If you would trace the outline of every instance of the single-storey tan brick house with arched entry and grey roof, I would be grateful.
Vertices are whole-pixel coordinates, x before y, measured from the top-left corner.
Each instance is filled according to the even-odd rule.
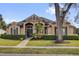
[[[6,31],[9,35],[26,35],[30,37],[31,33],[36,33],[35,25],[41,23],[43,26],[42,34],[56,35],[56,22],[46,19],[44,17],[37,16],[33,14],[32,16],[24,19],[20,22],[12,22],[8,25]],[[76,34],[76,28],[72,26],[69,22],[64,21],[63,23],[63,35],[74,35]]]

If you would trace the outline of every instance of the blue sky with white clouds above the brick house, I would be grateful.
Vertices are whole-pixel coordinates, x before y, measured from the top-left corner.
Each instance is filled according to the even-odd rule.
[[[76,11],[72,8],[70,11],[69,21],[72,25],[78,27],[78,25],[73,22]],[[2,14],[7,24],[12,21],[19,22],[24,20],[32,14],[55,20],[54,7],[50,8],[48,3],[0,3],[0,14]]]

